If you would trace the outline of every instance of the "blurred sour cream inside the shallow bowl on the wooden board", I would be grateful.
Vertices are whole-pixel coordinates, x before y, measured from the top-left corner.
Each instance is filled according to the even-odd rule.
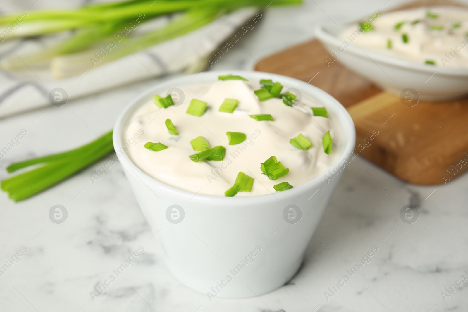
[[[355,23],[345,29],[340,38],[348,44],[418,64],[431,60],[436,66],[468,68],[468,37],[465,36],[468,32],[468,10],[460,7],[439,9],[422,7],[380,14],[371,23],[372,30],[359,33],[359,25]],[[430,18],[428,12],[438,17]],[[412,24],[415,21],[419,22]],[[399,22],[404,24],[395,29]],[[455,28],[457,23],[460,27]],[[443,29],[430,29],[431,26],[442,26]],[[408,43],[403,42],[403,34],[408,35]],[[390,49],[388,40],[392,43]]]

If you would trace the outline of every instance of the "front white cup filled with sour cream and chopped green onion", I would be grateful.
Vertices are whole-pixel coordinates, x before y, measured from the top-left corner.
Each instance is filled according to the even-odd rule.
[[[212,299],[295,274],[355,131],[339,102],[300,80],[207,72],[139,96],[113,142],[168,269]]]

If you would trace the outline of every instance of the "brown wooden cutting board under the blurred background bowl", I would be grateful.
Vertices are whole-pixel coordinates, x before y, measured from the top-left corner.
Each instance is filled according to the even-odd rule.
[[[327,67],[325,59],[329,53],[313,40],[264,58],[255,69],[307,81],[334,96],[356,126],[355,151],[403,181],[443,184],[468,170],[468,99],[407,107],[338,61]],[[374,131],[378,135],[369,140]]]

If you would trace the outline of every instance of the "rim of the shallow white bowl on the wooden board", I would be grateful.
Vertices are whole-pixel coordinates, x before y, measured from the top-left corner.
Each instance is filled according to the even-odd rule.
[[[315,36],[317,36],[317,38],[322,42],[322,44],[330,44],[335,47],[343,45],[344,41],[338,38],[336,35],[334,35],[331,31],[329,31],[330,27],[344,30],[344,28],[347,27],[347,25],[341,25],[338,27],[333,25],[319,25],[314,29]],[[371,61],[379,61],[383,64],[393,65],[407,70],[428,73],[430,75],[436,72],[437,75],[468,76],[468,69],[465,68],[449,68],[418,64],[401,58],[395,58],[384,54],[380,54],[375,51],[366,50],[351,44],[346,48],[345,51],[349,51],[350,53],[353,53],[363,58],[370,58]],[[337,59],[339,60],[339,58]]]

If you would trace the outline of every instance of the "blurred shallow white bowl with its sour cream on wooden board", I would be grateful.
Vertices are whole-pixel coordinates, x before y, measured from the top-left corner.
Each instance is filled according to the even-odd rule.
[[[468,94],[467,8],[420,7],[363,21],[367,31],[357,22],[320,26],[315,35],[338,62],[390,93],[413,88],[429,101]]]

